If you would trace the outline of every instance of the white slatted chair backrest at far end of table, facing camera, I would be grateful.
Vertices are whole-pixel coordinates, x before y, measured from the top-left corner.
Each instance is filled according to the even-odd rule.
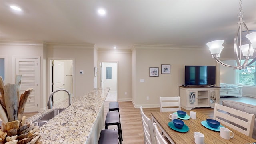
[[[160,112],[176,112],[180,110],[180,97],[161,97]]]

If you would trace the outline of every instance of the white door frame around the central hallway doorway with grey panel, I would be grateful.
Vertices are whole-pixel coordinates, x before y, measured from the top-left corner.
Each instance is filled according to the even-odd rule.
[[[102,75],[102,69],[100,67],[100,64],[102,62],[116,62],[116,101],[118,102],[118,93],[119,93],[119,88],[118,88],[118,61],[98,61],[98,88],[101,88],[101,75]]]

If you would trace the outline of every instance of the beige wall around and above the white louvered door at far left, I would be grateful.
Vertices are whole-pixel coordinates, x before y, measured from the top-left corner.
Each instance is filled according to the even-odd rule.
[[[15,83],[15,58],[35,58],[39,57],[40,68],[38,72],[41,74],[39,76],[38,82],[38,110],[43,110],[44,105],[46,104],[46,93],[45,93],[45,74],[46,67],[44,59],[44,42],[30,42],[30,41],[0,41],[0,54],[6,57],[6,78],[5,84]],[[44,79],[43,79],[44,78]],[[46,106],[46,105],[45,105]]]

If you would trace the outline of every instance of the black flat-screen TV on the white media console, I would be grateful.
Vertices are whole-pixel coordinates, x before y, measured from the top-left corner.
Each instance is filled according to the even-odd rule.
[[[185,66],[186,85],[214,85],[215,66]]]

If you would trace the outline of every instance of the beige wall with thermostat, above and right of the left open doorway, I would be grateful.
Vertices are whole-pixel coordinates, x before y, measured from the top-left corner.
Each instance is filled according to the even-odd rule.
[[[94,45],[49,44],[47,56],[51,58],[74,58],[74,94],[84,96],[94,88]],[[80,74],[84,70],[84,74]]]

